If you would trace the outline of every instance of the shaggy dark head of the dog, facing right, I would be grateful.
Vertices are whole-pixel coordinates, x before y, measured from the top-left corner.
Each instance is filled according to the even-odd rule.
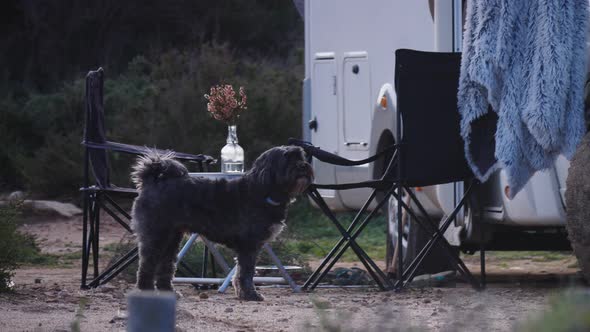
[[[313,182],[313,169],[298,146],[265,151],[254,161],[250,173],[259,185],[286,193],[288,197],[301,194]]]

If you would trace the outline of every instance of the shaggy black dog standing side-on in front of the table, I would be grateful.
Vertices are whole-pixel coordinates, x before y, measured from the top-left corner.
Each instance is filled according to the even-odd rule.
[[[236,295],[261,301],[252,280],[256,256],[283,228],[291,199],[313,181],[303,150],[272,148],[234,180],[191,177],[173,158],[173,153],[147,154],[132,173],[139,190],[132,211],[139,241],[137,287],[153,290],[155,283],[159,290],[172,290],[183,233],[196,232],[236,251]]]

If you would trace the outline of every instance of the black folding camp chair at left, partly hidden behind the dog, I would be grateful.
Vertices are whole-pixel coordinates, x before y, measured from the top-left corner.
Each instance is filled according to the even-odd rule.
[[[137,247],[127,252],[99,273],[99,235],[101,210],[109,214],[125,230],[131,232],[131,216],[117,203],[118,199],[132,199],[135,188],[115,186],[110,181],[109,152],[142,155],[148,148],[111,142],[106,139],[103,107],[104,72],[102,68],[90,71],[86,76],[86,126],[84,128],[84,186],[82,226],[82,279],[81,288],[90,288],[107,283],[137,259]],[[150,149],[153,150],[153,149]],[[164,153],[165,151],[160,152]],[[176,158],[194,162],[199,171],[206,171],[215,162],[203,154],[175,153]],[[90,169],[94,178],[91,184]],[[117,199],[117,200],[116,200]],[[93,278],[88,282],[88,267],[92,256]]]

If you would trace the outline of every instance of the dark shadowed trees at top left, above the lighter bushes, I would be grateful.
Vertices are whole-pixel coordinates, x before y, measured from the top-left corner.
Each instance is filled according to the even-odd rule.
[[[97,64],[118,74],[137,54],[213,41],[285,57],[303,39],[291,1],[12,0],[0,12],[0,91],[55,91]]]

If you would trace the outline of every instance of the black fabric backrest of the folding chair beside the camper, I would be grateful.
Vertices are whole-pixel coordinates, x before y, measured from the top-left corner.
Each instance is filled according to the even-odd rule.
[[[398,179],[415,187],[471,178],[457,111],[461,54],[400,49],[395,57],[403,135]]]

